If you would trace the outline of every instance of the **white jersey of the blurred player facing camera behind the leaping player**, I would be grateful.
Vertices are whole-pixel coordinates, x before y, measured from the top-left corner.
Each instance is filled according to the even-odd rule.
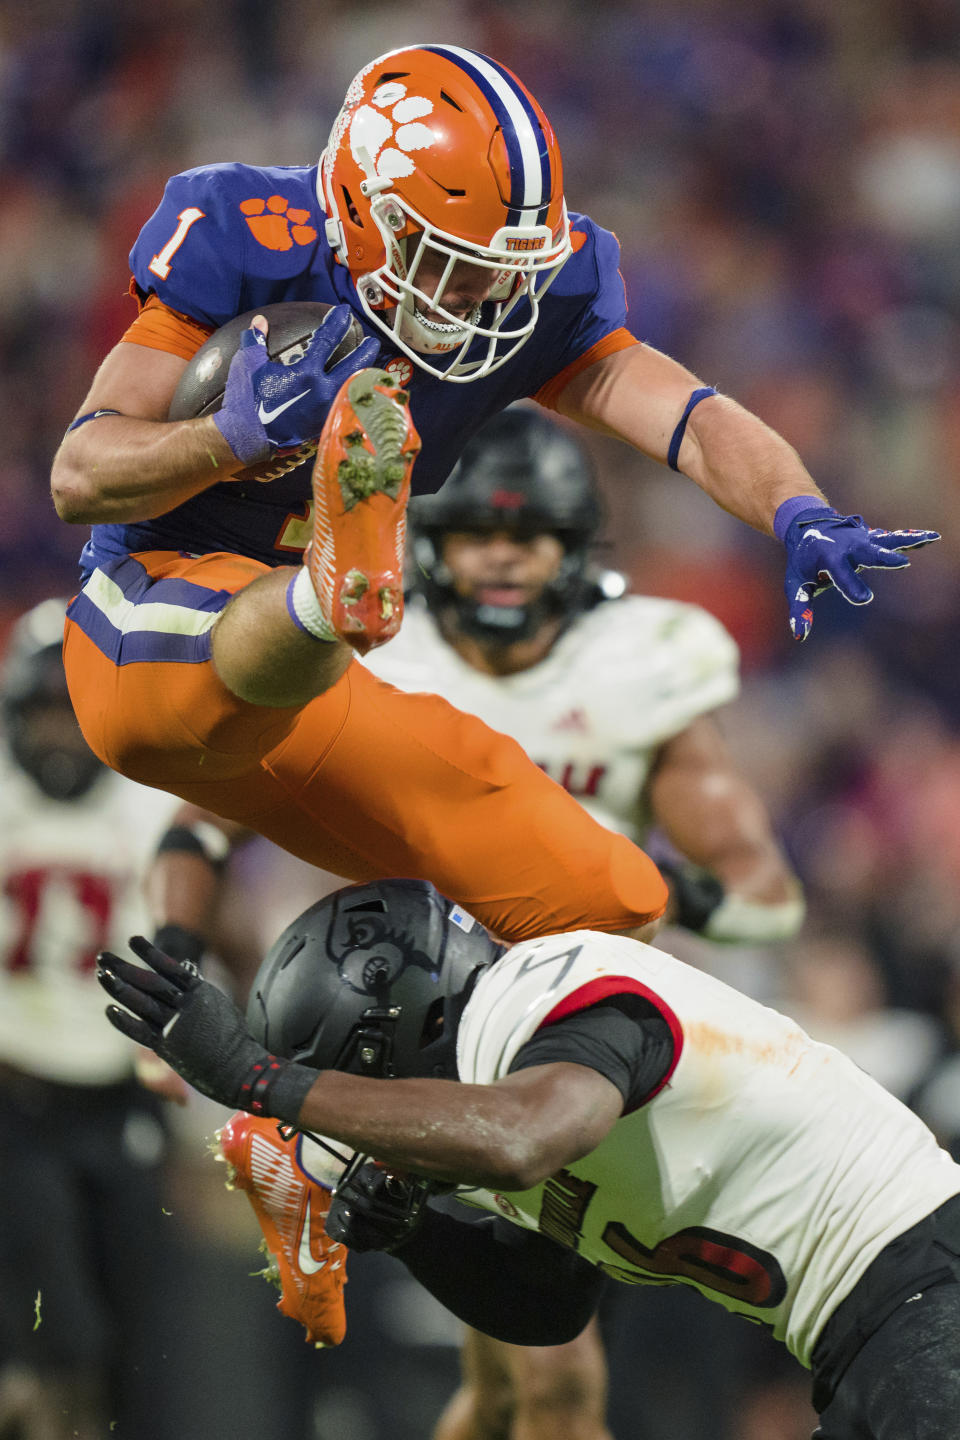
[[[738,651],[695,605],[632,595],[579,616],[515,675],[484,675],[415,598],[400,634],[364,657],[399,690],[427,690],[518,740],[609,829],[640,840],[640,795],[658,747],[733,700]]]

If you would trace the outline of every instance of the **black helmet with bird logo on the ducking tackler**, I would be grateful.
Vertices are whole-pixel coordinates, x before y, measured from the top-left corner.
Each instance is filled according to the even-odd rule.
[[[504,948],[426,880],[337,890],[286,926],[248,1002],[268,1050],[317,1070],[456,1079],[456,1027]]]

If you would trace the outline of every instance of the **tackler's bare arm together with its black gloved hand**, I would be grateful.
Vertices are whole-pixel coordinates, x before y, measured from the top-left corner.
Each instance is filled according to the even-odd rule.
[[[610,1080],[569,1063],[492,1084],[318,1073],[265,1050],[194,963],[144,936],[132,936],[130,948],[144,963],[111,950],[98,956],[98,979],[114,1001],[107,1018],[117,1030],[220,1104],[276,1116],[399,1171],[528,1189],[596,1149],[623,1110]]]

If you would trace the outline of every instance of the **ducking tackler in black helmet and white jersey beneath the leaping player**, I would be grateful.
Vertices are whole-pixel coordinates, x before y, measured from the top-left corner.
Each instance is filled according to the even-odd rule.
[[[117,1028],[353,1149],[330,1234],[468,1323],[556,1344],[607,1282],[682,1283],[813,1371],[819,1440],[956,1434],[960,1166],[784,1015],[625,937],[504,950],[416,880],[305,912],[246,1021],[131,943],[150,971],[101,958]]]

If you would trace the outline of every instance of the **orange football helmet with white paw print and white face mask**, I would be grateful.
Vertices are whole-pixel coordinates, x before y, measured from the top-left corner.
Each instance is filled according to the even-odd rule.
[[[550,121],[504,65],[455,45],[391,50],[356,76],[317,189],[367,318],[442,380],[514,356],[571,253]]]

